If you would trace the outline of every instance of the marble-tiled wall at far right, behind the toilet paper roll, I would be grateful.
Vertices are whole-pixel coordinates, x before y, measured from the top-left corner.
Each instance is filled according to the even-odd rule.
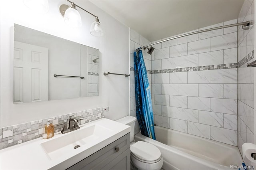
[[[254,0],[245,0],[238,22],[254,20]],[[238,27],[238,148],[254,143],[254,68],[246,67],[254,61],[254,27],[242,30]],[[226,123],[226,126],[233,126]]]

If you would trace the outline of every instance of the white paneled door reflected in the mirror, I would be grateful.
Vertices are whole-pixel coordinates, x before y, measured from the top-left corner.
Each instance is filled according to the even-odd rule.
[[[48,101],[49,50],[14,42],[14,103]]]

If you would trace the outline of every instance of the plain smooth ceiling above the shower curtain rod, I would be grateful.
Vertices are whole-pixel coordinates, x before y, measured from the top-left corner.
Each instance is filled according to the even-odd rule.
[[[244,0],[91,0],[150,42],[238,18]]]

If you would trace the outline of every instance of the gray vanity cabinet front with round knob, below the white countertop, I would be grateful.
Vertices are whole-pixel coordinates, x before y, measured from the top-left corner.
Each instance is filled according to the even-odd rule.
[[[129,164],[127,161],[129,161]],[[124,164],[124,162],[126,163]],[[112,168],[117,170],[117,167],[121,166],[126,168],[119,170],[130,170],[130,133],[74,164],[67,170],[110,170]]]

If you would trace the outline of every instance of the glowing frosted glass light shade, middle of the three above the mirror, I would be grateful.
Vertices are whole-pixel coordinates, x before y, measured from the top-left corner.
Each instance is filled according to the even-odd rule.
[[[80,27],[82,20],[79,12],[75,8],[69,7],[64,14],[64,21],[72,27]]]

